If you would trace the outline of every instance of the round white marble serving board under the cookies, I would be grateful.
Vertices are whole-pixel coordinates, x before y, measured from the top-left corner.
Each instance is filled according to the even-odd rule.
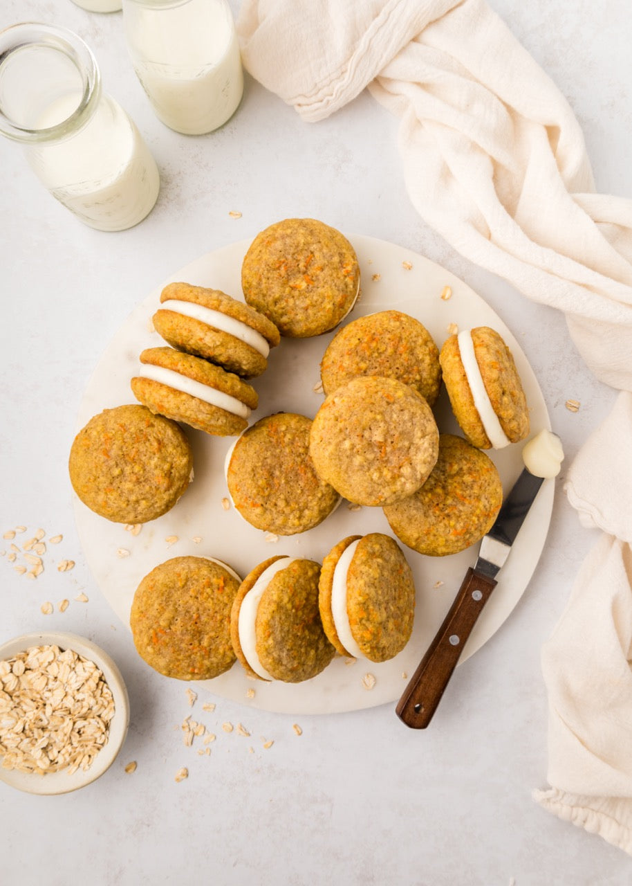
[[[496,329],[510,347],[525,388],[532,432],[550,428],[543,394],[533,370],[512,332],[488,304],[458,277],[398,245],[372,237],[348,235],[358,253],[361,293],[358,304],[344,323],[355,317],[397,308],[417,317],[441,347],[453,323],[460,329],[487,325]],[[136,307],[104,351],[81,401],[77,430],[104,408],[135,402],[129,387],[138,374],[138,355],[143,348],[164,345],[153,330],[151,316],[159,304],[163,286],[172,281],[210,286],[243,299],[241,267],[250,240],[207,253],[168,280]],[[451,297],[442,299],[444,287]],[[259,407],[251,421],[273,412],[298,412],[313,417],[320,407],[320,358],[334,332],[317,338],[282,338],[270,354],[266,372],[251,384],[257,389]],[[459,433],[443,390],[435,404],[440,431]],[[224,458],[233,438],[210,437],[186,429],[194,450],[195,478],[181,500],[164,517],[142,526],[134,535],[123,525],[97,517],[81,501],[74,501],[81,545],[98,586],[119,618],[128,626],[135,588],[158,563],[173,556],[212,556],[228,563],[242,577],[266,558],[278,554],[304,556],[321,561],[335,543],[351,533],[390,532],[382,509],[350,509],[348,502],[320,526],[296,536],[270,540],[266,533],[247,524],[222,501],[227,497]],[[490,453],[497,464],[505,494],[522,470],[521,445]],[[528,585],[543,550],[551,520],[554,483],[546,480],[537,495],[499,581],[463,650],[460,663],[489,640],[512,612]],[[175,539],[175,540],[174,540]],[[354,711],[395,702],[403,692],[428,643],[441,625],[459,590],[478,545],[453,556],[427,557],[405,548],[417,588],[417,607],[412,639],[394,659],[383,664],[358,660],[348,664],[336,657],[313,680],[294,685],[264,683],[246,678],[240,664],[214,680],[198,682],[212,694],[253,707],[288,713]],[[374,677],[365,680],[366,674]],[[373,688],[366,685],[373,684]]]

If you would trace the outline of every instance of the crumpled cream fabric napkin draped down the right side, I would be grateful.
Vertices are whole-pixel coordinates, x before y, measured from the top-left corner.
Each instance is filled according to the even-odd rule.
[[[396,114],[422,219],[563,311],[626,392],[568,474],[604,534],[543,650],[551,790],[536,798],[632,853],[632,201],[595,193],[566,99],[484,0],[243,0],[237,30],[250,74],[304,120],[365,88]]]

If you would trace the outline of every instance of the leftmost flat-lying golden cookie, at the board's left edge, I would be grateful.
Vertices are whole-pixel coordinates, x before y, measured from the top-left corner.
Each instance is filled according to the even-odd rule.
[[[68,470],[75,493],[114,523],[146,523],[189,486],[193,458],[178,424],[138,404],[104,409],[74,438]]]

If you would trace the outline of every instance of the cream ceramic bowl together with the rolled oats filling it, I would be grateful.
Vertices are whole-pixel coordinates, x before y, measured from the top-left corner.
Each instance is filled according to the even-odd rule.
[[[0,646],[0,780],[37,794],[95,781],[127,734],[129,704],[103,649],[73,634]]]

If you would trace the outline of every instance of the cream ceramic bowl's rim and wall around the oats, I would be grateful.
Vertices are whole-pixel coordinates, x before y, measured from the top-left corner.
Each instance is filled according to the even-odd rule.
[[[127,688],[119,668],[114,664],[112,658],[93,642],[74,633],[25,633],[0,646],[0,661],[10,659],[32,646],[58,646],[62,650],[73,649],[78,655],[88,658],[89,661],[96,664],[103,672],[104,680],[112,691],[114,716],[110,720],[108,740],[85,772],[80,767],[73,773],[69,773],[67,768],[61,769],[59,772],[45,774],[23,773],[17,769],[4,769],[2,757],[0,757],[0,781],[11,785],[12,788],[24,790],[30,794],[66,794],[96,781],[112,766],[125,741],[129,725]]]

